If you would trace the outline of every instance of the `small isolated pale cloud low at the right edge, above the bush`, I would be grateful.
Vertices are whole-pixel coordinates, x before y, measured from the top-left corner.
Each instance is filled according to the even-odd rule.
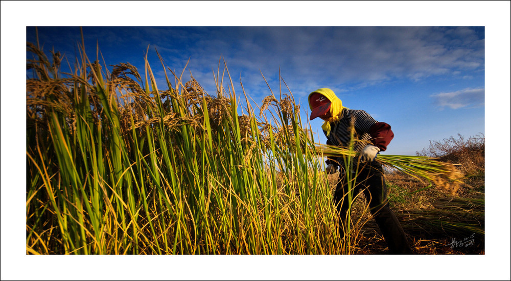
[[[484,88],[467,88],[460,91],[431,95],[434,104],[440,108],[459,109],[484,106]]]

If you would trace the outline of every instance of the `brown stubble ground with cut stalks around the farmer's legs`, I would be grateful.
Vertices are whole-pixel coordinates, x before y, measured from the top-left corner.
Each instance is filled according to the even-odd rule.
[[[329,181],[332,191],[335,190],[337,174],[330,175]],[[484,254],[484,184],[481,189],[478,183],[475,187],[464,185],[454,196],[437,187],[413,193],[427,184],[409,176],[386,176],[390,207],[416,254]],[[482,205],[475,205],[473,201]],[[352,218],[364,216],[365,224],[360,229],[354,253],[385,254],[388,247],[380,229],[370,214],[363,214],[364,208],[365,198],[361,196],[353,206]],[[469,214],[468,218],[456,216],[460,212]],[[435,226],[433,222],[459,227],[450,229]],[[482,229],[482,234],[471,233],[470,227],[479,232]]]

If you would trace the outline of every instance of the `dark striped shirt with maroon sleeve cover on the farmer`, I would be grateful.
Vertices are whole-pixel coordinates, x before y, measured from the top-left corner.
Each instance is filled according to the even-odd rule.
[[[356,141],[354,144],[355,151],[361,151],[367,145],[366,141],[373,142],[381,151],[385,151],[388,143],[394,136],[390,130],[390,125],[376,121],[364,110],[344,108],[342,118],[338,122],[330,124],[332,130],[330,134],[327,136],[327,132],[323,130],[323,133],[327,136],[327,144],[347,148],[350,144],[350,128],[352,123],[355,127],[355,139],[365,141]],[[330,159],[335,161],[332,163]],[[327,160],[327,164],[344,165],[342,158],[330,159]]]

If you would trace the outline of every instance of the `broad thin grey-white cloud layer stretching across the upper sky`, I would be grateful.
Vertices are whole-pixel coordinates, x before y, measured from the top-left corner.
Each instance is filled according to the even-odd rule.
[[[281,68],[307,82],[420,80],[484,67],[484,39],[467,27],[155,28],[147,37],[162,55],[169,42],[183,47],[181,60],[191,56],[193,68],[211,69],[222,55],[231,73]]]

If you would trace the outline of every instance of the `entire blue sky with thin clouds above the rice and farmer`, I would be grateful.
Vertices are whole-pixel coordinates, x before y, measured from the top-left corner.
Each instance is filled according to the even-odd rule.
[[[44,50],[75,57],[79,27],[38,32]],[[177,73],[190,59],[184,81],[191,71],[213,95],[213,70],[222,58],[236,93],[241,79],[258,105],[270,94],[261,72],[278,93],[280,70],[305,122],[308,94],[331,88],[344,106],[392,126],[387,154],[415,155],[429,140],[485,132],[484,27],[83,27],[83,33],[90,59],[99,44],[107,65],[129,62],[141,74],[149,46],[159,89],[167,88],[155,49]],[[27,27],[27,40],[35,42],[34,27]],[[324,143],[321,120],[311,125]]]

